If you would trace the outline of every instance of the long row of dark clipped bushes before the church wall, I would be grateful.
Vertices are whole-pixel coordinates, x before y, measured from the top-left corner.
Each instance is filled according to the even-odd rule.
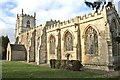
[[[79,71],[82,64],[78,60],[50,60],[51,68]]]

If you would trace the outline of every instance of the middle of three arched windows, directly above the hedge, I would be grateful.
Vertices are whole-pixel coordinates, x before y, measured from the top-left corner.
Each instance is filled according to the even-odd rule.
[[[73,38],[70,32],[66,32],[64,37],[64,49],[65,51],[73,51]]]

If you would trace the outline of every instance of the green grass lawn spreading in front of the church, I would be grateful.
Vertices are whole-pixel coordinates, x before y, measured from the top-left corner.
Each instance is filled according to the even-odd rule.
[[[3,78],[111,78],[112,75],[93,70],[68,71],[25,62],[2,62]]]

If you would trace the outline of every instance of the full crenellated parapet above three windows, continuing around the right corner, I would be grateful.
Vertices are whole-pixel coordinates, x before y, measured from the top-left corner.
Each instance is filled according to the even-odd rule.
[[[63,28],[66,26],[72,26],[72,25],[75,25],[76,23],[81,24],[81,23],[90,22],[90,21],[97,20],[97,19],[102,19],[104,17],[103,15],[105,14],[104,11],[106,11],[107,13],[112,10],[115,10],[115,8],[105,7],[100,12],[88,13],[88,14],[84,14],[83,16],[76,16],[75,18],[72,18],[70,20],[66,20],[63,22],[61,22],[60,20],[58,21],[51,20],[50,22],[54,22],[54,23],[47,26],[46,29],[48,31],[51,31],[51,30],[56,30],[56,29]]]

